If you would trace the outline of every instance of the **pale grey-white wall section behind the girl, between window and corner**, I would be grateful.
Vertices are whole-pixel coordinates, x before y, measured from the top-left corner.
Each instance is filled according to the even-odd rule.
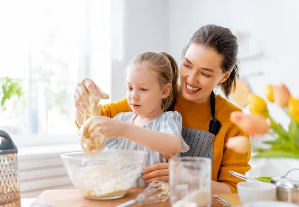
[[[168,0],[112,1],[112,101],[126,95],[124,70],[135,55],[169,50],[168,24]]]

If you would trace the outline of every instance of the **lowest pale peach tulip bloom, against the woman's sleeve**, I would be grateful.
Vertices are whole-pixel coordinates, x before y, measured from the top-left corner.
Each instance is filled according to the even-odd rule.
[[[226,143],[228,149],[239,154],[245,154],[250,150],[250,141],[246,136],[231,137]]]

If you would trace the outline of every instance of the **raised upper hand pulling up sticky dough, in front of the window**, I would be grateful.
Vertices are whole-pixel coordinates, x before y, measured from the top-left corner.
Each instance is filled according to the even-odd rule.
[[[76,87],[74,93],[76,121],[79,126],[83,124],[82,114],[88,109],[89,97],[108,99],[109,95],[104,93],[91,79],[84,78]]]

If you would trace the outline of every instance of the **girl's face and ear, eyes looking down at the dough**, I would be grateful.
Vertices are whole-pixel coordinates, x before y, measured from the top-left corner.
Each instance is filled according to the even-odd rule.
[[[145,64],[135,66],[127,73],[127,100],[136,115],[155,117],[162,112],[161,101],[171,90],[171,84],[161,87],[158,73]]]

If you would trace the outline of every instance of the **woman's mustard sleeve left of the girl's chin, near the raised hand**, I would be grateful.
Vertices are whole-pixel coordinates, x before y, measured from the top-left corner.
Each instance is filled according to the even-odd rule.
[[[111,102],[109,104],[103,105],[101,116],[108,116],[110,118],[113,118],[118,113],[128,112],[128,111],[130,111],[130,106],[128,104],[127,98],[125,97],[119,101]],[[75,120],[75,124],[77,128],[80,129],[76,120]]]

